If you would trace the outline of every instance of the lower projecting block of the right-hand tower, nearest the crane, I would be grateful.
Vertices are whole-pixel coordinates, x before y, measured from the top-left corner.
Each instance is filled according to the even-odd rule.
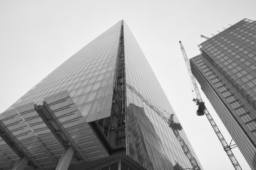
[[[200,83],[203,92],[213,105],[213,108],[215,108],[220,119],[228,129],[249,165],[252,167],[252,169],[256,168],[255,144],[246,134],[248,131],[245,132],[241,127],[241,124],[246,125],[249,132],[256,137],[256,116],[254,113],[248,111],[244,105],[244,102],[243,104],[240,101],[240,95],[234,93],[234,88],[229,88],[232,87],[231,84],[229,83],[227,86],[227,84],[223,82],[226,81],[225,77],[223,77],[221,73],[216,70],[213,64],[204,58],[204,55],[198,55],[197,57],[191,58],[190,61],[192,73]],[[210,76],[207,75],[209,70],[214,70],[213,72],[219,76],[210,78]],[[205,77],[208,77],[210,80],[206,81]],[[223,96],[222,100],[220,99],[220,95]],[[230,105],[230,108],[227,108],[226,105]],[[238,118],[240,118],[242,122],[238,123]]]

